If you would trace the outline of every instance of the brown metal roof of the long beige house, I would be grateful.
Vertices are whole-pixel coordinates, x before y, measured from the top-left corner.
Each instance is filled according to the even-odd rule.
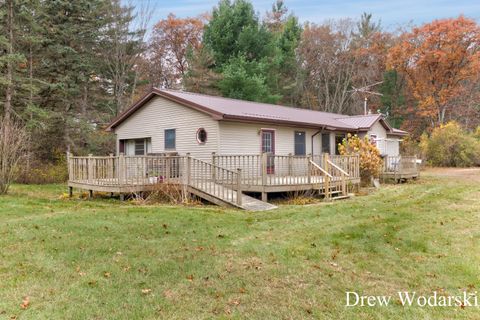
[[[326,128],[328,130],[357,131],[364,128],[368,129],[381,117],[381,115],[349,117],[342,114],[208,96],[198,93],[153,89],[136,104],[114,119],[107,130],[112,130],[118,126],[154,96],[161,96],[198,111],[205,112],[216,120],[266,122]],[[364,127],[364,125],[368,124],[370,124],[369,127]]]

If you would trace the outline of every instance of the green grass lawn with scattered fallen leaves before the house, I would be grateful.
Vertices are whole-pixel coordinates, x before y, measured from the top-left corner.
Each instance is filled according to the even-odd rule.
[[[472,319],[479,308],[403,307],[396,295],[479,289],[471,176],[259,213],[15,185],[0,197],[0,319]],[[346,291],[394,301],[345,307]]]

